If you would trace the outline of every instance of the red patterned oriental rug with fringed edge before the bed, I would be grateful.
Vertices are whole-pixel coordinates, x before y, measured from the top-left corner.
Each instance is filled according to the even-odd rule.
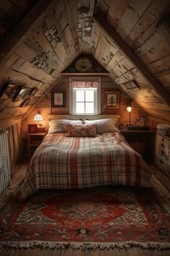
[[[48,190],[0,206],[1,247],[170,248],[169,214],[153,189]]]

